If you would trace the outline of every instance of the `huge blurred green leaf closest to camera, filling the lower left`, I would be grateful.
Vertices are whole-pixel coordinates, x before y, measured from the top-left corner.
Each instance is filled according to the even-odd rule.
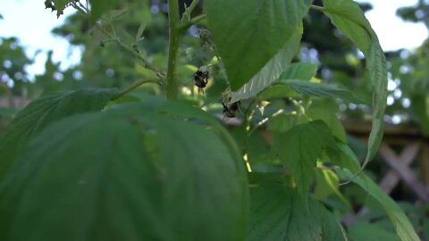
[[[240,156],[213,130],[140,115],[76,115],[31,140],[0,187],[0,239],[242,240]]]

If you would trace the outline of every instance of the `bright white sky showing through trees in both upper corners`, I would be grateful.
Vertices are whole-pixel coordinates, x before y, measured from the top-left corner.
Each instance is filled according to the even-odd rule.
[[[417,0],[357,0],[357,2],[371,3],[372,11],[366,12],[373,29],[377,33],[385,51],[400,48],[412,49],[420,46],[428,36],[423,23],[416,24],[401,21],[396,16],[400,6],[416,4]],[[43,0],[0,0],[0,37],[18,37],[29,57],[35,56],[38,50],[42,52],[35,56],[35,63],[29,66],[32,74],[43,73],[46,53],[54,50],[54,61],[61,62],[65,69],[80,62],[79,47],[71,48],[67,40],[55,37],[51,29],[63,23],[65,16],[71,14],[71,8],[66,9],[64,15],[56,18],[55,12],[45,9]]]

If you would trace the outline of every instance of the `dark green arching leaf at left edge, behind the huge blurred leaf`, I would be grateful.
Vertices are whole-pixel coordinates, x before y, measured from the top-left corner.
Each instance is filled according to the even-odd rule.
[[[0,179],[29,138],[66,116],[99,111],[114,95],[114,89],[82,89],[41,97],[31,102],[0,137]]]

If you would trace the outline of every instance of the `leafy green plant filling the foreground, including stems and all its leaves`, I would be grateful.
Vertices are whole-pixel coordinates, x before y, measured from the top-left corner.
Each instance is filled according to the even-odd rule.
[[[361,172],[383,137],[387,71],[353,1],[45,4],[58,16],[78,10],[55,32],[87,46],[85,64],[58,84],[43,83],[57,69],[46,62],[35,85],[59,93],[29,104],[0,136],[2,240],[348,240],[366,226],[418,240]],[[297,55],[312,12],[365,54],[363,95]],[[365,96],[373,129],[361,167],[337,113]],[[230,121],[238,126],[225,129]],[[362,187],[391,226],[343,227],[356,189],[340,181]]]

